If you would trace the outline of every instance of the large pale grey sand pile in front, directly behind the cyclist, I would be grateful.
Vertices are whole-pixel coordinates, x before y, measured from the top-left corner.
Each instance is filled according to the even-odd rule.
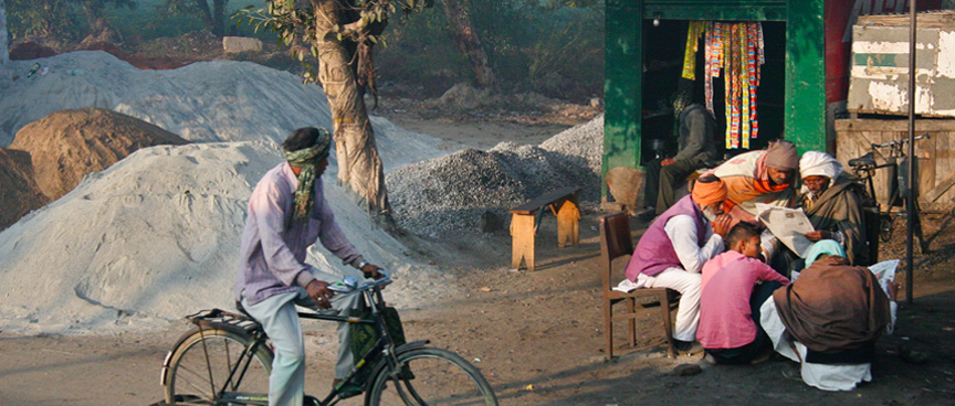
[[[160,146],[88,175],[0,233],[3,330],[143,331],[199,309],[231,308],[249,195],[281,161],[279,146],[263,141]],[[323,178],[326,196],[345,234],[399,278],[388,289],[392,303],[454,292],[433,267],[409,260],[334,177]],[[355,271],[324,248],[313,247],[307,261]]]

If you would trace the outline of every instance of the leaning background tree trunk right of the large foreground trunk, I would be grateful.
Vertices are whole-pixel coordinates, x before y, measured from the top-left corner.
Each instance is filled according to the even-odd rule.
[[[478,33],[471,25],[468,8],[463,7],[460,0],[443,0],[443,6],[451,41],[454,41],[454,44],[458,45],[458,49],[461,50],[468,62],[471,63],[471,68],[474,71],[474,76],[478,79],[478,86],[494,86],[497,77],[487,62],[487,53],[484,52],[484,47],[481,45],[481,38],[478,36]]]

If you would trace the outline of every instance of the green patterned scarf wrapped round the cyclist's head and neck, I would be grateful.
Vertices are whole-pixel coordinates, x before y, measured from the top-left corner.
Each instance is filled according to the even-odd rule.
[[[332,135],[324,128],[318,128],[318,137],[312,147],[295,151],[284,150],[285,161],[302,168],[298,172],[298,189],[295,190],[295,204],[287,226],[308,222],[312,206],[315,203],[315,178],[318,177],[318,162],[328,158],[332,146]]]

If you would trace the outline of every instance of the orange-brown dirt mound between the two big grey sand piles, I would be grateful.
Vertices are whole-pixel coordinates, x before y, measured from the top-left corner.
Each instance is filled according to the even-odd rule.
[[[140,148],[187,142],[137,118],[87,107],[60,110],[24,126],[10,149],[30,152],[36,184],[56,200],[83,175],[109,168]]]

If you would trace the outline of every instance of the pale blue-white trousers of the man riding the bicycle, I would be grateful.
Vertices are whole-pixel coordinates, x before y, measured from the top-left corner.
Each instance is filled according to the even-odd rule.
[[[242,298],[242,307],[262,323],[265,334],[275,348],[272,374],[269,376],[269,406],[300,406],[305,396],[305,339],[295,304],[318,310],[323,314],[348,316],[348,310],[358,309],[360,295],[337,293],[332,297],[332,309],[318,310],[305,289],[272,296],[255,304]],[[348,376],[355,364],[348,343],[351,331],[348,323],[338,323],[338,362],[335,377]]]

